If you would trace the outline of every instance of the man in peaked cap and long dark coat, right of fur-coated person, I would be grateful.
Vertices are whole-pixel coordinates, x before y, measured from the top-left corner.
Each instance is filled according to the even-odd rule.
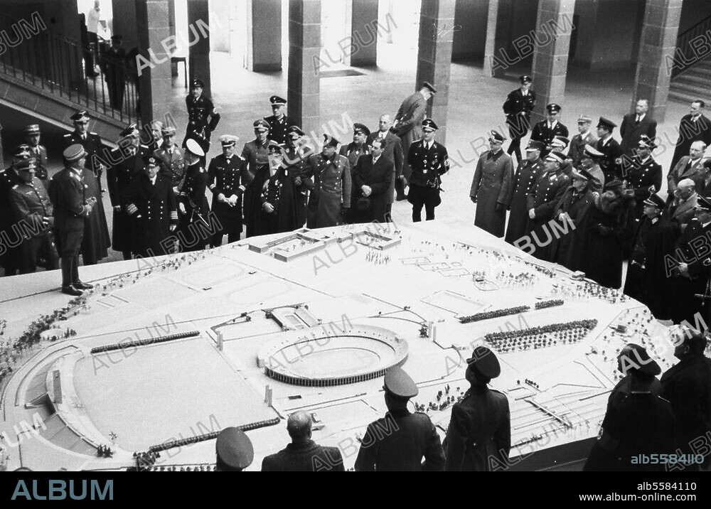
[[[673,256],[675,227],[663,217],[665,201],[657,194],[644,200],[643,218],[638,223],[632,244],[624,293],[649,308],[658,320],[672,317],[673,279],[668,277],[665,262]]]

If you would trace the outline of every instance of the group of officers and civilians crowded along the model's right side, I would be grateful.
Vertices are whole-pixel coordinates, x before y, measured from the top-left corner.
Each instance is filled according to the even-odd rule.
[[[680,124],[668,197],[659,195],[663,171],[652,155],[656,121],[648,102],[621,122],[580,115],[569,137],[561,107],[547,105],[547,118],[530,126],[535,92],[530,76],[503,105],[512,139],[489,134],[490,149],[477,161],[470,197],[474,224],[534,257],[561,264],[646,304],[656,318],[711,323],[711,122],[704,103],[692,103]],[[520,139],[530,134],[525,156]],[[684,153],[685,151],[685,153]],[[518,156],[514,169],[512,156]],[[507,223],[508,211],[508,223]]]

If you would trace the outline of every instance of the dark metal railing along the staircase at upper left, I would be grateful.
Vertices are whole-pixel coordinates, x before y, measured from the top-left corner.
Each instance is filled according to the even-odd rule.
[[[97,52],[90,45],[50,30],[26,31],[16,19],[1,12],[0,30],[8,34],[6,42],[14,44],[4,44],[0,52],[0,74],[63,97],[77,109],[124,123],[140,121],[136,70],[110,63],[100,65],[102,72],[92,78],[94,69],[87,69],[87,63],[96,63],[92,53]],[[106,63],[102,57],[98,60]]]

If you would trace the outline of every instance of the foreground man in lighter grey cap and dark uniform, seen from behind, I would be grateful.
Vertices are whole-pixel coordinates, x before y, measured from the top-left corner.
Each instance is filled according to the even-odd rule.
[[[360,442],[356,471],[442,471],[444,451],[427,414],[407,409],[417,385],[402,368],[385,372],[385,417],[368,424]],[[422,459],[424,458],[424,462]]]

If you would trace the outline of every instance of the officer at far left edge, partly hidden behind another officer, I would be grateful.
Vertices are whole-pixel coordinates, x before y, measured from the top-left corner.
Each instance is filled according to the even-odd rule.
[[[20,182],[17,165],[30,158],[30,147],[22,144],[12,151],[12,163],[9,168],[0,171],[0,238],[4,241],[0,243],[0,262],[4,267],[5,276],[14,276],[20,270],[20,250],[21,236],[13,232],[13,225],[16,222],[14,210],[12,210],[10,191]]]

